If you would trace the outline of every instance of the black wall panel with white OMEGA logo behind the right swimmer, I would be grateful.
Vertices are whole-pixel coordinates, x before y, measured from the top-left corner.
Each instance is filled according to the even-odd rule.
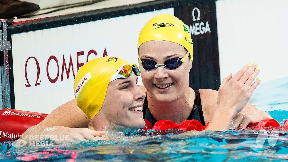
[[[220,69],[215,2],[178,7],[174,11],[187,25],[194,46],[190,87],[218,90]]]

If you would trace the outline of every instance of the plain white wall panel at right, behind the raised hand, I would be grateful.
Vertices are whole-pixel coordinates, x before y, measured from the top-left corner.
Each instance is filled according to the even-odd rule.
[[[216,2],[221,80],[253,62],[262,83],[288,76],[287,10],[286,0]]]

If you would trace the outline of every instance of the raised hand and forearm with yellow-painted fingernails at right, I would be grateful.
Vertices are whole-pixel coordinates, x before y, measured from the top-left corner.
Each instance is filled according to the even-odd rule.
[[[232,74],[229,74],[223,79],[219,87],[217,108],[206,130],[229,129],[232,118],[247,105],[252,93],[259,85],[261,78],[256,79],[259,71],[257,63],[248,64],[235,76],[232,77]]]

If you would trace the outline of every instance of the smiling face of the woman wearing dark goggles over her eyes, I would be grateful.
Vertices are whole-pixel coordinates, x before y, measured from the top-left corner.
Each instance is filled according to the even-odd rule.
[[[186,53],[183,46],[169,41],[148,41],[139,46],[139,58],[153,60],[157,64],[163,64],[176,57],[184,57]],[[145,70],[139,62],[142,81],[149,95],[164,102],[176,100],[189,87],[191,67],[192,61],[188,57],[176,69],[156,67]]]

